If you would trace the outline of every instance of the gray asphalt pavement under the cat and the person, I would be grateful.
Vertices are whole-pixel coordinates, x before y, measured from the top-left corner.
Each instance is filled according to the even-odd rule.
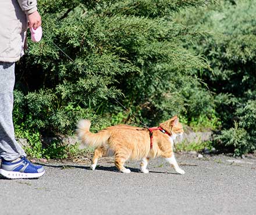
[[[112,163],[45,163],[38,180],[0,178],[0,214],[256,214],[256,159],[177,155],[184,175],[162,159],[150,173],[116,171]]]

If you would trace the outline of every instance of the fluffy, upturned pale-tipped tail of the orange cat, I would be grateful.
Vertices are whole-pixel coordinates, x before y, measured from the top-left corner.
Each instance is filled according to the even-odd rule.
[[[76,134],[82,144],[97,147],[108,141],[109,131],[94,134],[90,132],[90,127],[91,122],[89,120],[80,120],[77,124]]]

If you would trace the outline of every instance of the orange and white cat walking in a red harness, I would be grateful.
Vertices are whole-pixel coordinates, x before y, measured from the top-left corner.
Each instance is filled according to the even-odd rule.
[[[174,167],[177,173],[185,173],[178,166],[173,154],[173,140],[177,135],[183,134],[182,124],[179,123],[177,116],[160,124],[163,131],[150,132],[147,128],[118,125],[94,134],[89,131],[90,126],[90,121],[81,120],[77,126],[77,135],[82,144],[97,147],[91,166],[93,170],[99,158],[115,156],[115,166],[123,173],[130,173],[130,170],[124,166],[128,159],[140,159],[140,170],[148,173],[148,160],[161,156]]]

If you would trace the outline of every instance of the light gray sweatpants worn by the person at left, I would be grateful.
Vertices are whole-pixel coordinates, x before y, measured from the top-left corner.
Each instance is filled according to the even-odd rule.
[[[13,87],[15,84],[15,63],[0,62],[0,157],[15,160],[26,156],[17,144],[13,128]]]

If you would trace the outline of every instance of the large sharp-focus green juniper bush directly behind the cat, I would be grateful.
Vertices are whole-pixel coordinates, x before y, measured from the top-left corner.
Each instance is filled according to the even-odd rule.
[[[19,137],[72,135],[81,118],[98,130],[137,119],[156,126],[174,114],[212,117],[212,95],[194,76],[208,64],[183,46],[199,34],[170,19],[204,2],[39,1],[44,37],[29,41],[16,67]]]

